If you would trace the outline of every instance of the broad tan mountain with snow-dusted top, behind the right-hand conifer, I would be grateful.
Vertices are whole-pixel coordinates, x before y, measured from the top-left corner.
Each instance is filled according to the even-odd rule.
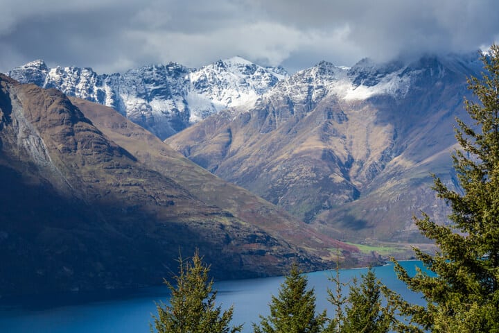
[[[420,241],[412,215],[446,221],[430,172],[455,182],[454,118],[480,69],[475,55],[320,62],[166,142],[330,236]]]

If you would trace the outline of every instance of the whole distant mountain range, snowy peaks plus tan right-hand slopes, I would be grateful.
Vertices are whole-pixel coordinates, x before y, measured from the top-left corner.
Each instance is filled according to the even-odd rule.
[[[112,75],[36,61],[8,74],[111,106],[319,234],[399,246],[424,241],[412,221],[421,210],[447,221],[431,173],[459,190],[453,126],[481,70],[476,53],[324,61],[292,76],[238,57]]]

